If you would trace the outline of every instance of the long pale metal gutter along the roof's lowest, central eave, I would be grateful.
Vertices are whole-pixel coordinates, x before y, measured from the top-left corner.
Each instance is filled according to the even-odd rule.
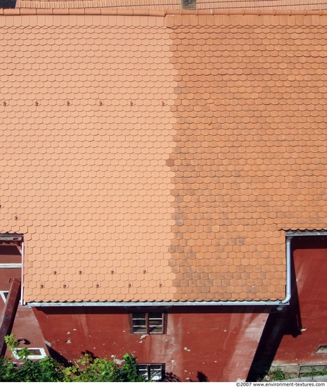
[[[119,302],[119,301],[81,301],[76,303],[46,303],[46,302],[32,302],[32,303],[24,303],[26,306],[30,307],[81,307],[81,306],[90,306],[90,307],[98,307],[98,306],[108,306],[108,307],[150,307],[150,306],[281,306],[288,305],[288,303],[283,303],[282,300],[276,301],[145,301],[145,302]]]

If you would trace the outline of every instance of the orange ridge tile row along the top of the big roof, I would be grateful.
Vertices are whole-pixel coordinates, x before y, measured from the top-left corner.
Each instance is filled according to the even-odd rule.
[[[0,15],[327,15],[327,10],[262,10],[262,9],[210,9],[210,10],[152,10],[113,8],[0,8]]]

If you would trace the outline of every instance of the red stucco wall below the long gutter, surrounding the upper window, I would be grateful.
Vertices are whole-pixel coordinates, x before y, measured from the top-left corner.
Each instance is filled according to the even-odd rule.
[[[167,334],[129,333],[127,310],[115,307],[47,307],[34,310],[46,341],[68,360],[89,350],[99,357],[134,353],[138,362],[164,362],[181,381],[245,379],[267,319],[254,307],[171,307]]]

